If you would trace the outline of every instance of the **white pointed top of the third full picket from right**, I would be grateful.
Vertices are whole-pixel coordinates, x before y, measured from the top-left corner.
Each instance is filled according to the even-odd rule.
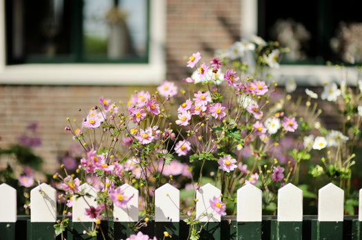
[[[246,184],[237,190],[237,221],[261,221],[261,190]]]

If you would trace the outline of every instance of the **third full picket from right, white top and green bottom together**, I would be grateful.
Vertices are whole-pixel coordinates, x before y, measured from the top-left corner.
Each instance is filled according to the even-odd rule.
[[[237,237],[261,239],[261,190],[246,184],[237,190]]]

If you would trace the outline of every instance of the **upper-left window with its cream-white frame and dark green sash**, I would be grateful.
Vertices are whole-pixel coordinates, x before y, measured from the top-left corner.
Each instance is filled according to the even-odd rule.
[[[165,0],[1,1],[0,83],[159,84],[165,12]]]

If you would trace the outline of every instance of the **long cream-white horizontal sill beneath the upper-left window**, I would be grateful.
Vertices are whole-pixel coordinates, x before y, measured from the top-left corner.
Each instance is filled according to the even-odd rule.
[[[24,64],[0,70],[0,84],[158,85],[163,80],[163,64]]]

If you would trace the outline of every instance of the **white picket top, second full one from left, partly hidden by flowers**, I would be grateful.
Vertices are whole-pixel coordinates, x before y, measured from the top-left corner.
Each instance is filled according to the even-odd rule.
[[[90,186],[89,184],[82,184],[79,186],[79,191],[84,189],[84,193],[89,193],[90,197],[79,197],[76,198],[76,195],[73,195],[73,214],[72,214],[72,221],[94,221],[91,217],[87,216],[86,208],[90,208],[90,206],[93,206],[94,208],[97,208],[97,201],[95,201],[97,197],[97,189]]]

